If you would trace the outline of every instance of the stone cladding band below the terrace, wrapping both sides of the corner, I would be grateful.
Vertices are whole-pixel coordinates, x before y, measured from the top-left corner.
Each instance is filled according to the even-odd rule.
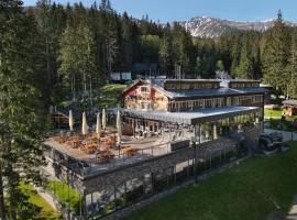
[[[242,134],[245,136],[245,145],[248,147],[254,146],[258,136],[258,129],[245,130]],[[209,148],[213,150],[230,150],[234,143],[228,141],[227,139],[218,139],[211,142],[206,142],[197,145],[197,155],[204,156],[209,153]],[[216,153],[212,155],[215,156]],[[87,195],[94,191],[100,191],[110,187],[113,188],[114,185],[121,185],[131,179],[143,179],[146,174],[167,174],[177,164],[187,162],[195,157],[195,148],[186,147],[170,154],[162,155],[158,157],[153,157],[147,161],[142,161],[135,164],[118,167],[116,169],[108,170],[101,174],[94,174],[94,176],[87,176],[82,178],[81,176],[75,174],[74,172],[67,170],[66,167],[59,166],[56,168],[56,176],[70,186],[75,187],[82,194]],[[67,173],[68,172],[68,173]]]

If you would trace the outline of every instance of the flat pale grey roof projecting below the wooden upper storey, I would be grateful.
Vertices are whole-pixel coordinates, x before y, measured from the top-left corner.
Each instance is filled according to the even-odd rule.
[[[122,116],[141,118],[155,121],[164,121],[180,124],[198,124],[207,121],[216,121],[231,116],[241,116],[243,113],[257,113],[257,107],[224,107],[205,109],[190,112],[164,112],[164,111],[140,111],[133,109],[119,109]],[[117,109],[110,109],[116,114]]]

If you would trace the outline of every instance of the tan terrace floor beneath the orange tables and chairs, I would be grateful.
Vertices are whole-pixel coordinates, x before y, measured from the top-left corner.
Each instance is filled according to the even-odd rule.
[[[55,150],[55,152],[58,152],[59,156],[58,158],[55,157],[55,161],[61,161],[63,165],[81,175],[107,172],[120,166],[134,164],[155,156],[170,153],[168,139],[160,136],[134,140],[124,136],[120,151],[119,148],[110,148],[114,157],[107,163],[101,163],[100,160],[97,158],[96,153],[87,154],[79,148],[72,148],[69,145],[58,143],[53,139],[46,140],[44,144]],[[127,146],[134,148],[136,153],[133,156],[124,154],[123,148]],[[64,164],[64,158],[62,157],[72,157],[73,161],[76,161],[76,164]],[[86,162],[89,167],[85,169],[81,169],[81,167],[79,168],[77,164],[81,162]]]

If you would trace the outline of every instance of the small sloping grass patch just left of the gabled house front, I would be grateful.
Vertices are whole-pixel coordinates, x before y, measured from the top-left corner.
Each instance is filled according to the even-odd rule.
[[[100,89],[100,97],[96,105],[101,108],[117,107],[120,100],[121,92],[127,88],[127,85],[109,84]]]

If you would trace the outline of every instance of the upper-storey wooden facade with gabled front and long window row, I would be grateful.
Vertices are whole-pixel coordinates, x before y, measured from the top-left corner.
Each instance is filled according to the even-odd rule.
[[[243,84],[242,81],[240,81]],[[231,84],[231,82],[230,82]],[[233,84],[233,81],[232,81]],[[233,86],[239,84],[235,81]],[[246,81],[245,86],[255,86],[255,81]],[[187,86],[186,86],[187,85]],[[201,86],[205,85],[205,86]],[[134,110],[153,110],[153,111],[194,111],[207,108],[221,108],[230,106],[260,107],[264,106],[263,92],[243,92],[239,95],[217,95],[217,96],[186,96],[170,97],[165,88],[176,88],[176,90],[199,87],[219,89],[219,80],[167,80],[164,84],[164,89],[155,87],[146,81],[139,81],[132,85],[123,92],[123,106],[127,109]],[[255,86],[256,87],[256,86]],[[170,89],[168,89],[170,90]],[[189,89],[187,89],[189,90]],[[197,89],[198,90],[198,89]]]

